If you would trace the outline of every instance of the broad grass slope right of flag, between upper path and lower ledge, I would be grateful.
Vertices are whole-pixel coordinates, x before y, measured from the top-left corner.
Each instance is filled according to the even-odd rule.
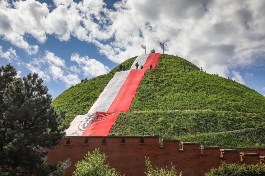
[[[265,97],[240,83],[208,73],[147,70],[130,111],[167,110],[263,113]]]

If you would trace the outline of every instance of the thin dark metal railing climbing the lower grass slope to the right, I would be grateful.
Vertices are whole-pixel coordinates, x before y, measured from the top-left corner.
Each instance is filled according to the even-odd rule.
[[[122,134],[122,135],[123,136],[159,135],[160,139],[173,139],[173,137],[179,137],[187,134],[225,132],[225,131],[242,130],[247,128],[262,127],[262,126],[265,126],[265,116],[228,120],[228,121],[209,122],[209,123],[202,123],[195,125],[184,125],[184,126],[141,131],[130,134]]]

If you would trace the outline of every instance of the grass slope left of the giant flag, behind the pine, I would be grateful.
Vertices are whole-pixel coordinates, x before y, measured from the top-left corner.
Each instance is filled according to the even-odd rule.
[[[132,66],[136,58],[137,56],[122,63],[125,65],[126,70]],[[56,97],[51,105],[55,107],[56,112],[66,111],[65,123],[70,124],[77,115],[86,114],[89,111],[106,85],[118,71],[119,65],[105,75],[70,87]]]

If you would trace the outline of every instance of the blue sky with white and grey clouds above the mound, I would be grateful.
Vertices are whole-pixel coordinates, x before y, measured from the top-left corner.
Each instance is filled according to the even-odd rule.
[[[265,96],[264,0],[0,0],[0,65],[56,98],[152,49]]]

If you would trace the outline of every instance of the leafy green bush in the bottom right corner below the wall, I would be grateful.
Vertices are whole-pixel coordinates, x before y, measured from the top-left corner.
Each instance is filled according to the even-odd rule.
[[[219,168],[214,168],[205,176],[264,176],[265,165],[247,165],[247,164],[226,164],[225,162]]]

